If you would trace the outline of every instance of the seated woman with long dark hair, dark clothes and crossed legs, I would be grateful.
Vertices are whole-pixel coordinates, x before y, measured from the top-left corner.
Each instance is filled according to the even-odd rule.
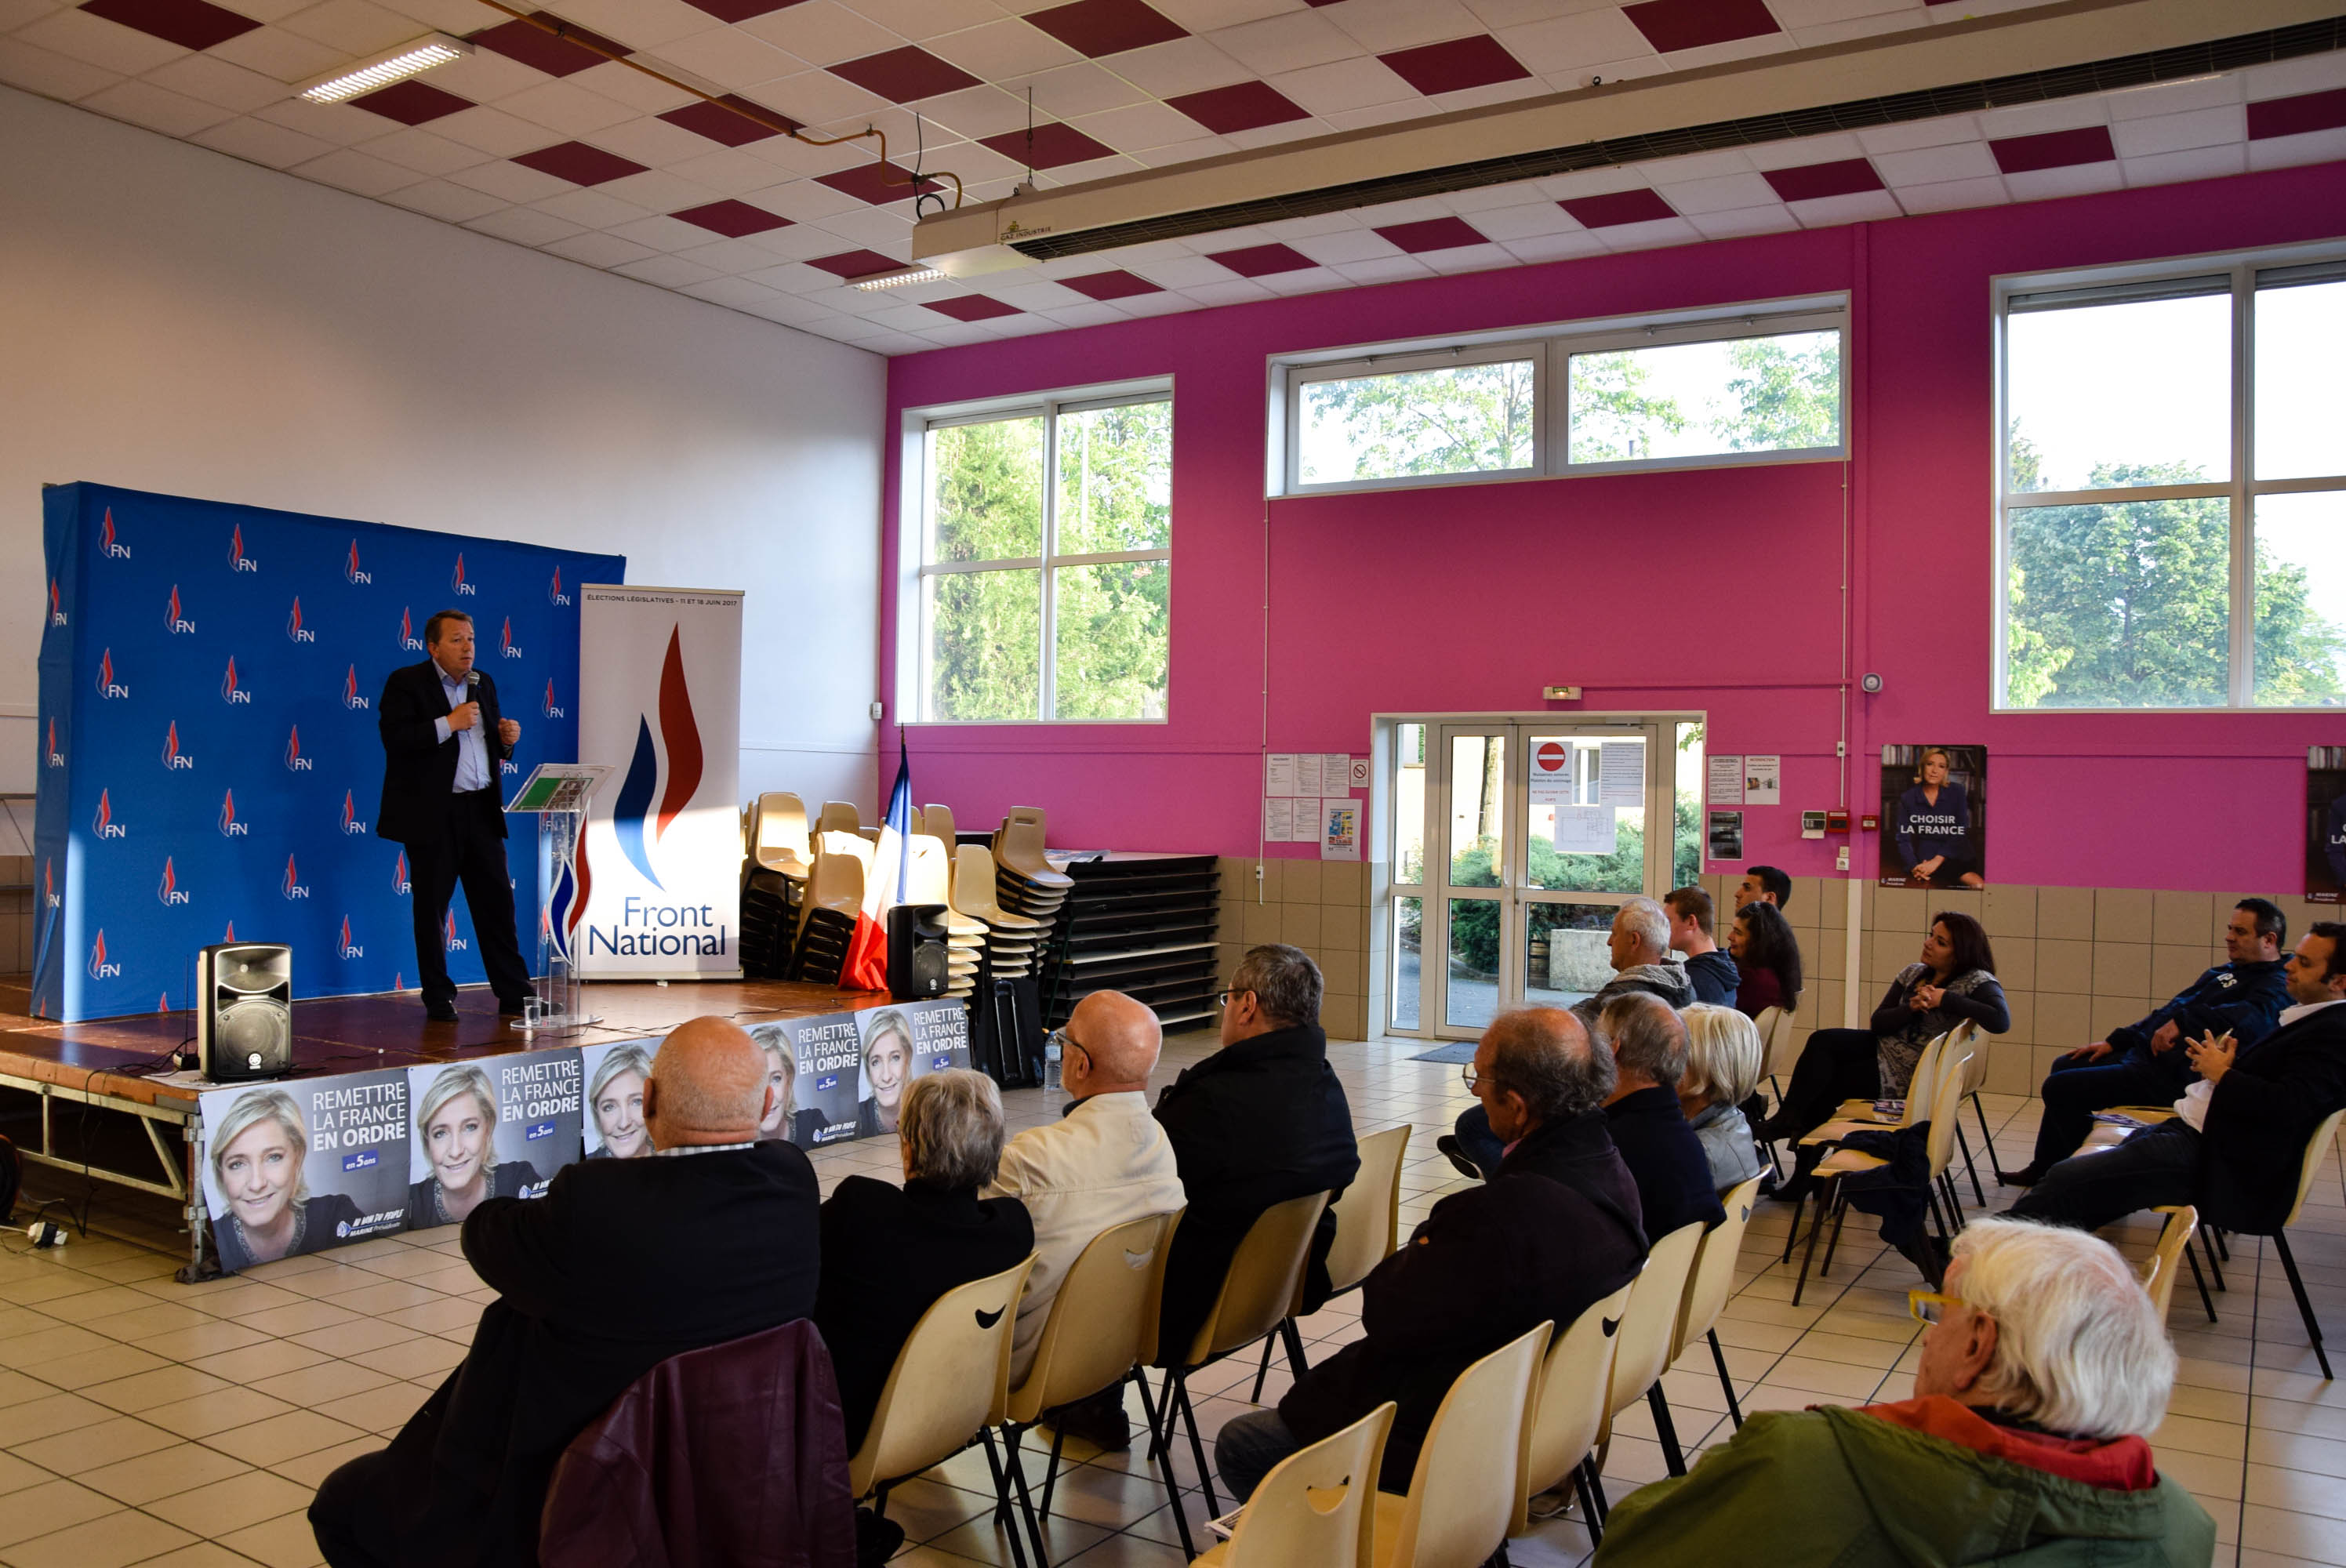
[[[1971,915],[1940,911],[1931,915],[1931,934],[1921,939],[1921,962],[1898,972],[1881,1007],[1874,1007],[1872,1028],[1820,1028],[1809,1035],[1783,1103],[1755,1131],[1769,1143],[1797,1143],[1846,1099],[1905,1096],[1921,1047],[1957,1023],[1978,1023],[1989,1035],[2001,1035],[2013,1026],[2013,1014],[1996,984],[1987,932]],[[1818,1148],[1799,1150],[1797,1174],[1776,1188],[1776,1197],[1804,1197],[1809,1169],[1820,1157]]]

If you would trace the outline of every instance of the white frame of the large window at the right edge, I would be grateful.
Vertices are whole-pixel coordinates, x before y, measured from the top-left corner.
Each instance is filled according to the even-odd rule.
[[[1994,425],[1992,425],[1992,530],[1994,592],[1989,594],[1989,714],[2337,714],[2337,704],[2257,702],[2257,498],[2346,491],[2346,472],[2297,479],[2257,479],[2257,275],[2285,268],[2346,263],[2346,244],[2337,239],[2311,244],[2262,246],[2252,251],[2215,251],[2170,256],[2114,268],[2069,268],[2060,272],[2022,272],[1989,279],[1994,338]],[[2034,310],[2079,310],[2161,296],[2161,284],[2198,277],[2229,277],[2231,298],[2231,474],[2196,484],[2116,486],[2100,491],[2013,491],[2011,488],[2011,317],[2013,300],[2041,293],[2079,293],[2074,305],[2036,305]],[[2283,284],[2285,286],[2285,284]],[[2212,291],[2208,291],[2212,293]],[[2020,315],[2029,315],[2025,305]],[[2194,707],[2013,707],[2011,704],[2011,587],[2013,587],[2013,512],[2036,507],[2123,505],[2137,500],[2224,498],[2229,505],[2229,582],[2226,582],[2226,678],[2222,704]]]

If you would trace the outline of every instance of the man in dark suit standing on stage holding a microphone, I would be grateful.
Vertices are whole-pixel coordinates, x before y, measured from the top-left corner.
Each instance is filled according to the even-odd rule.
[[[514,939],[497,763],[514,753],[521,723],[497,716],[497,683],[472,667],[469,615],[441,610],[427,620],[425,650],[432,657],[422,664],[392,671],[375,704],[382,730],[375,836],[408,847],[425,1014],[455,1023],[455,981],[441,932],[457,883],[465,883],[465,908],[497,1012],[518,1014],[530,995],[530,969]]]

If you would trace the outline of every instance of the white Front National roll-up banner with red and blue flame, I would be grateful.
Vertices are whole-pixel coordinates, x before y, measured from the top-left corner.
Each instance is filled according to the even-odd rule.
[[[612,768],[554,911],[579,976],[739,976],[739,592],[579,584],[579,761]]]

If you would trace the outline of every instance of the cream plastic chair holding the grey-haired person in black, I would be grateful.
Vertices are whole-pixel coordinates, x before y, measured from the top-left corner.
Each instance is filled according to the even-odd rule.
[[[1035,1253],[1028,1253],[1018,1268],[955,1286],[913,1324],[880,1387],[863,1446],[847,1460],[847,1491],[870,1498],[875,1514],[887,1514],[891,1486],[950,1460],[971,1437],[985,1444],[999,1491],[1002,1455],[992,1430],[1009,1404],[1011,1329],[1032,1268]],[[1018,1530],[1011,1530],[1011,1556],[1025,1566]]]

